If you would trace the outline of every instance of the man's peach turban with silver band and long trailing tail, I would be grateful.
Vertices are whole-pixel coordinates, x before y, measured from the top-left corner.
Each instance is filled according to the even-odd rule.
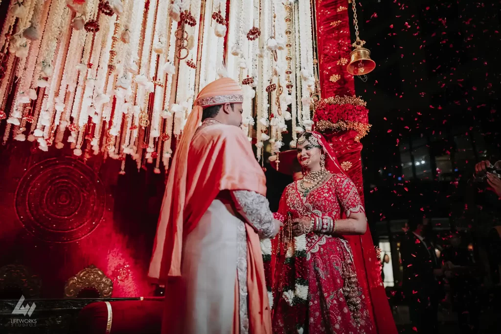
[[[153,248],[148,276],[154,281],[163,281],[165,276],[180,276],[183,210],[186,198],[188,151],[196,129],[202,120],[204,107],[242,103],[240,85],[231,78],[217,79],[205,86],[197,95],[193,110],[184,126],[170,166],[167,187],[162,203],[157,235]],[[175,224],[167,228],[168,224]],[[167,232],[169,230],[170,232]],[[172,232],[176,231],[176,232]],[[167,245],[168,244],[168,245]],[[168,270],[168,273],[166,272]]]

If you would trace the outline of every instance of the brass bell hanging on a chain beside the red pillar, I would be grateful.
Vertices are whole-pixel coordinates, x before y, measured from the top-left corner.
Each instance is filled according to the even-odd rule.
[[[353,25],[355,26],[355,42],[352,46],[355,48],[350,53],[350,63],[346,70],[352,75],[365,75],[372,72],[376,68],[376,63],[371,59],[371,52],[364,48],[365,41],[362,41],[358,36],[358,20],[356,2],[353,0]]]

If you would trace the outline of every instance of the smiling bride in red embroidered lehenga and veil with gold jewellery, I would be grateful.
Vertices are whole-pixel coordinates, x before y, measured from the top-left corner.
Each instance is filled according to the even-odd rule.
[[[361,237],[367,220],[355,185],[320,133],[303,133],[297,150],[304,178],[285,189],[275,214],[284,228],[271,249],[263,247],[273,332],[396,333],[380,269],[368,279],[377,259],[370,234],[365,244]],[[364,256],[371,252],[368,268]],[[372,309],[371,298],[383,313]],[[376,325],[375,317],[386,324]]]

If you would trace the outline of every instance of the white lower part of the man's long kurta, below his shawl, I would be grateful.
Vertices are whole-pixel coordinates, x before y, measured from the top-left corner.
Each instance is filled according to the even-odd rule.
[[[179,320],[184,321],[186,334],[232,332],[235,277],[237,263],[241,262],[240,231],[243,228],[245,243],[245,226],[230,210],[221,201],[214,200],[183,241],[181,275],[186,288],[186,316]],[[246,292],[246,283],[244,285]],[[244,302],[246,304],[246,300]]]

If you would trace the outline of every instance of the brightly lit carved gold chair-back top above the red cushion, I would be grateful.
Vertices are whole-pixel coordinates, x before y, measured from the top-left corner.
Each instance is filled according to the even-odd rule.
[[[70,277],[64,287],[65,298],[107,298],[112,292],[112,280],[92,264]]]

